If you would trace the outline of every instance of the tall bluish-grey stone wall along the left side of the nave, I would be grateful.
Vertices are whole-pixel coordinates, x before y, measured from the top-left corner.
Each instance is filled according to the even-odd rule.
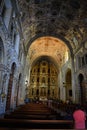
[[[24,99],[23,99],[23,87],[24,87],[24,48],[23,48],[23,40],[22,40],[22,36],[20,32],[20,26],[18,26],[19,21],[17,19],[17,17],[15,16],[15,20],[14,20],[14,28],[13,28],[13,32],[15,32],[17,34],[16,39],[15,39],[15,43],[13,42],[13,39],[11,37],[11,33],[10,33],[10,28],[11,28],[11,24],[12,24],[12,13],[15,12],[15,10],[13,10],[13,7],[11,5],[10,0],[6,0],[5,1],[6,7],[8,7],[8,11],[5,14],[5,18],[4,21],[2,19],[3,16],[0,16],[0,22],[2,24],[0,24],[0,38],[2,39],[2,44],[4,46],[4,50],[3,50],[3,63],[0,63],[0,74],[2,77],[1,80],[1,86],[0,86],[0,94],[2,92],[2,89],[4,89],[4,93],[6,94],[6,97],[4,98],[4,101],[2,101],[2,97],[0,95],[0,114],[3,114],[5,112],[5,107],[6,107],[6,99],[7,99],[7,92],[8,92],[8,82],[9,82],[9,78],[10,78],[10,73],[11,73],[11,67],[12,64],[15,63],[16,64],[16,70],[14,73],[14,78],[13,78],[13,83],[12,83],[12,93],[11,93],[11,106],[10,108],[14,109],[16,107],[16,98],[17,98],[17,85],[18,85],[18,79],[19,79],[19,74],[22,74],[22,78],[20,81],[20,85],[19,86],[21,88],[21,96],[19,96],[19,105],[22,103],[24,103]],[[15,44],[15,45],[14,45]],[[23,58],[21,61],[21,58],[19,56],[21,56],[19,53],[19,48],[22,48],[22,53],[23,53]],[[3,76],[7,75],[6,80],[3,84]],[[22,99],[22,100],[21,100]],[[22,101],[22,102],[21,102]]]

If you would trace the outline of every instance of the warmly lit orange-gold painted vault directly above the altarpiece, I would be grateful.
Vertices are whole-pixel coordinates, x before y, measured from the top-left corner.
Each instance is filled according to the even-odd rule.
[[[58,67],[64,64],[69,52],[66,44],[54,37],[41,37],[35,40],[29,48],[29,62],[32,64],[35,59],[49,57],[54,59]]]

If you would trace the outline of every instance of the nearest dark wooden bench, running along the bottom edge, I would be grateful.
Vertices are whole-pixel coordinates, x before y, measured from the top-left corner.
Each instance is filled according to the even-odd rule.
[[[27,129],[72,129],[73,121],[0,119],[0,127]]]

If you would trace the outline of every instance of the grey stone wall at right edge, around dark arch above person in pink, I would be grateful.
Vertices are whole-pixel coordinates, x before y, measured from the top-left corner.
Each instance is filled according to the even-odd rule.
[[[76,60],[76,62],[74,63],[76,66],[76,70],[75,70],[75,80],[76,80],[75,81],[76,82],[75,95],[76,95],[76,99],[75,100],[77,103],[81,102],[80,85],[79,85],[79,79],[78,79],[80,74],[82,74],[84,77],[84,81],[83,81],[84,95],[83,96],[85,96],[84,102],[87,102],[87,64],[82,65],[82,61],[78,60],[79,57],[83,57],[85,54],[87,54],[87,49],[85,48],[84,44],[85,44],[85,42],[83,43],[83,46],[80,47],[80,49],[75,54],[75,60]],[[81,66],[79,66],[79,65],[81,65]]]

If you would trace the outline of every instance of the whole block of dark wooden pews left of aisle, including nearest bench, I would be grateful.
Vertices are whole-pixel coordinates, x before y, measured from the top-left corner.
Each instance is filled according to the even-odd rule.
[[[29,103],[6,113],[0,119],[0,130],[9,129],[72,129],[72,120],[57,120],[57,113],[43,103]]]

